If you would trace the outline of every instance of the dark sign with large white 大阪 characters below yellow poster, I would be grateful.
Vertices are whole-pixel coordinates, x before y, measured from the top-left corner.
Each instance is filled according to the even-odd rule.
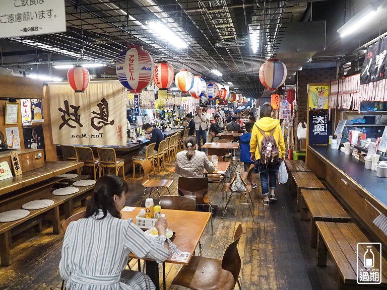
[[[328,144],[332,135],[332,121],[328,120],[328,110],[309,111],[309,145]]]

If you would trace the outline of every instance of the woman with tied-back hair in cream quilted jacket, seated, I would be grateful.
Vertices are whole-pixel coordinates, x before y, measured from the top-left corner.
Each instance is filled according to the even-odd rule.
[[[198,151],[198,140],[193,136],[184,139],[186,150],[177,153],[175,172],[181,177],[203,177],[204,169],[213,173],[215,167],[206,153]]]

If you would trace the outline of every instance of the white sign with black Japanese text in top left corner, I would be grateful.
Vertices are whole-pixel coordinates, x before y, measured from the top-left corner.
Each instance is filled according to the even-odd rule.
[[[0,38],[66,31],[64,0],[0,0]]]

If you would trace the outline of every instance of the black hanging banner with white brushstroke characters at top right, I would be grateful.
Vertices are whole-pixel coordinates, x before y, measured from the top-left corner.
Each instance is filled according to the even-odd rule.
[[[387,42],[379,39],[368,46],[360,73],[360,85],[380,81],[385,78]]]

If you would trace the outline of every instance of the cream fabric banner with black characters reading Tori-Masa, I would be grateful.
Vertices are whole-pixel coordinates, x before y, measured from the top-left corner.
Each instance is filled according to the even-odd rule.
[[[90,82],[85,93],[48,83],[54,144],[126,145],[126,91],[118,81]]]

